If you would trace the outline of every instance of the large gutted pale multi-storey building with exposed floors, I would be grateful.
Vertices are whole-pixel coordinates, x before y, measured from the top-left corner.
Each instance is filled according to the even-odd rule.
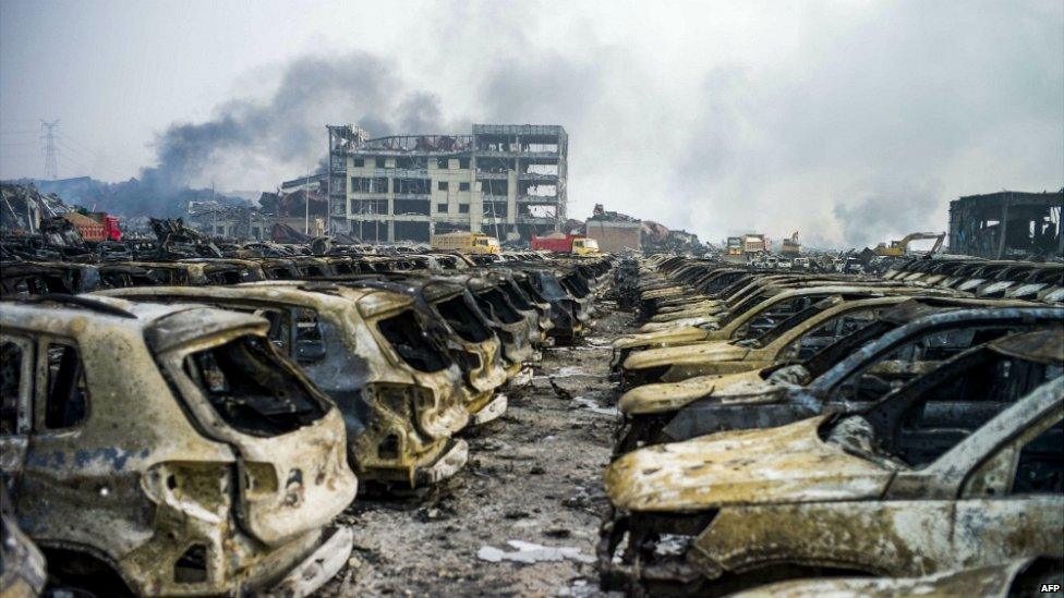
[[[365,241],[455,230],[528,240],[566,221],[564,127],[474,124],[469,135],[373,138],[330,125],[330,227]]]

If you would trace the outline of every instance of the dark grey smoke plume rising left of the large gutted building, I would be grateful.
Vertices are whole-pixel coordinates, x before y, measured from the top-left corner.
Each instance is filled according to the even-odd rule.
[[[361,51],[293,60],[265,100],[234,99],[206,122],[167,129],[155,142],[158,163],[143,169],[142,180],[179,188],[218,178],[233,188],[241,173],[267,171],[280,182],[324,163],[327,123],[354,122],[373,135],[445,126],[439,98],[404,89],[395,71]]]

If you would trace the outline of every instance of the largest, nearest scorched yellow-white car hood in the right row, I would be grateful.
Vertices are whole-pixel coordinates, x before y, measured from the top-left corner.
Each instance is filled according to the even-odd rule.
[[[606,493],[630,511],[853,501],[882,496],[894,472],[817,434],[829,416],[632,451],[606,469]]]

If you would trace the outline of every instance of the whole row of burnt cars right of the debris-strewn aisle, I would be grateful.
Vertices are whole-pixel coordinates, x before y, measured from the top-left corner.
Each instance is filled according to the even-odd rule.
[[[1064,269],[622,264],[605,589],[1061,590]],[[769,584],[769,585],[766,585]]]

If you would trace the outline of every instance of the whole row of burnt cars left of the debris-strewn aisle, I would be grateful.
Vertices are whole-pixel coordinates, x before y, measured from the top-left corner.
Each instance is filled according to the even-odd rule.
[[[491,432],[541,347],[592,325],[612,263],[117,265],[147,272],[134,284],[111,266],[3,267],[5,587],[44,583],[39,552],[12,548],[21,528],[55,587],[313,591],[347,562],[332,522],[355,495],[458,474],[462,436]],[[41,282],[44,267],[94,268],[100,288]]]

